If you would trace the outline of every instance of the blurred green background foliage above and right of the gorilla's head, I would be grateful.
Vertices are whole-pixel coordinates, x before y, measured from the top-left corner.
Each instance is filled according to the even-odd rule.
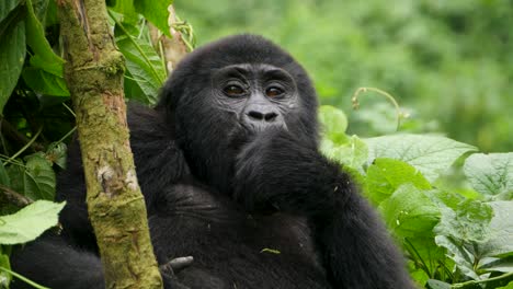
[[[175,1],[200,44],[262,34],[310,72],[323,104],[351,109],[360,86],[392,94],[411,111],[403,130],[443,131],[483,151],[513,149],[512,0]],[[363,96],[350,132],[395,128],[385,100]],[[368,115],[383,122],[368,122]]]

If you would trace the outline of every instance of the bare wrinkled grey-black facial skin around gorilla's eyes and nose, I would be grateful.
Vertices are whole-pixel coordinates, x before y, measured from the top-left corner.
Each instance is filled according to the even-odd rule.
[[[287,129],[285,116],[298,104],[297,85],[285,70],[271,65],[233,65],[212,78],[215,108],[232,113],[250,134]]]

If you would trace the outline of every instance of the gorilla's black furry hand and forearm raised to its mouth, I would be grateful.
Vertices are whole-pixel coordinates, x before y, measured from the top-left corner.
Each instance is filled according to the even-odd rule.
[[[353,185],[339,165],[284,129],[253,136],[237,158],[235,198],[250,211],[331,215]]]

